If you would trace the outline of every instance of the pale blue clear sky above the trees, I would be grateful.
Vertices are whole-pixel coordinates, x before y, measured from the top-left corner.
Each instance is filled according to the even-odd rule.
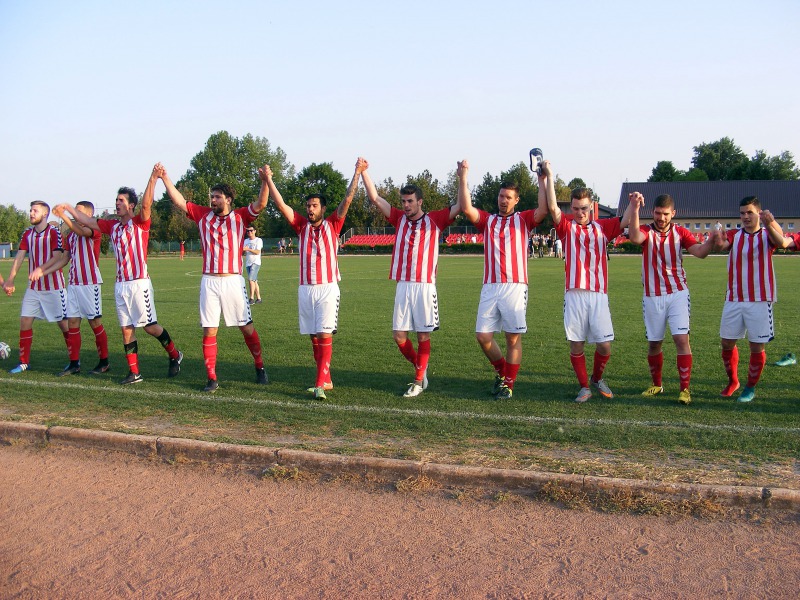
[[[376,181],[466,158],[475,186],[539,147],[614,207],[724,136],[800,162],[798,25],[797,0],[0,0],[0,204],[113,207],[225,130]]]

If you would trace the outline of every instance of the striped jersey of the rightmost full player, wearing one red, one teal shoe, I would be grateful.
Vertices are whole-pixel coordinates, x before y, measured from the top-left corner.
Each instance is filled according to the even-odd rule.
[[[772,269],[775,248],[763,227],[753,233],[744,228],[726,232],[731,244],[728,254],[728,294],[731,302],[775,302],[778,287]]]

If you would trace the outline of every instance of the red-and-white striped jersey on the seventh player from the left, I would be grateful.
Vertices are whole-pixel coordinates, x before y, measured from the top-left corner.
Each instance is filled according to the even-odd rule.
[[[508,217],[478,209],[483,233],[483,283],[528,283],[528,238],[538,225],[532,210]]]

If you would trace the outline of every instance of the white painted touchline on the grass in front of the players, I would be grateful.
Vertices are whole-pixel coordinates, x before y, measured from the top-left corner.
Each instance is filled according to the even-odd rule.
[[[369,413],[379,415],[401,415],[405,417],[418,417],[421,419],[463,419],[476,421],[491,421],[498,423],[530,423],[530,424],[553,424],[553,425],[578,425],[578,426],[634,426],[654,429],[697,429],[705,431],[733,431],[742,433],[796,433],[800,434],[800,427],[763,427],[760,425],[708,425],[705,423],[689,423],[677,421],[638,421],[629,419],[581,419],[567,417],[538,417],[535,415],[497,415],[473,411],[441,411],[425,410],[419,408],[395,408],[386,406],[362,406],[357,404],[332,404],[330,402],[291,402],[286,400],[266,400],[256,398],[244,398],[238,396],[211,396],[199,392],[164,392],[142,389],[133,386],[92,386],[80,383],[61,383],[49,381],[31,381],[25,379],[15,379],[0,377],[0,383],[9,386],[30,386],[41,388],[53,388],[61,390],[82,390],[102,392],[108,391],[115,396],[146,396],[149,398],[172,398],[183,400],[199,400],[211,403],[236,403],[271,406],[274,408],[289,408],[299,410],[327,410],[330,412],[344,413]]]

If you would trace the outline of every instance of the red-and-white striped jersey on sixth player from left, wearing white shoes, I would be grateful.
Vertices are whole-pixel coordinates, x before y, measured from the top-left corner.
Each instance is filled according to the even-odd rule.
[[[434,210],[410,221],[402,210],[392,207],[389,222],[394,225],[397,235],[389,279],[436,283],[440,234],[453,221],[449,208]]]

